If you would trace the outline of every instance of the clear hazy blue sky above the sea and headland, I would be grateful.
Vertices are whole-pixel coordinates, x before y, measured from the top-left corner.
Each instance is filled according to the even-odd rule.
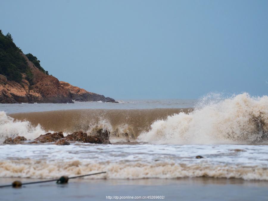
[[[267,95],[268,1],[1,1],[50,74],[115,99]]]

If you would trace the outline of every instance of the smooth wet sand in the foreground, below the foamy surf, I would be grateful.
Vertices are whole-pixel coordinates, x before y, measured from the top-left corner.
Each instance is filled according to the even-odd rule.
[[[14,180],[0,178],[1,185]],[[268,182],[207,177],[185,179],[89,180],[68,184],[31,184],[22,188],[0,188],[1,200],[110,200],[106,196],[165,196],[161,200],[268,200]],[[111,199],[115,200],[115,199]],[[119,200],[119,198],[118,198]],[[138,199],[121,199],[138,200]],[[144,199],[153,200],[153,199]],[[159,199],[160,200],[160,199]]]

